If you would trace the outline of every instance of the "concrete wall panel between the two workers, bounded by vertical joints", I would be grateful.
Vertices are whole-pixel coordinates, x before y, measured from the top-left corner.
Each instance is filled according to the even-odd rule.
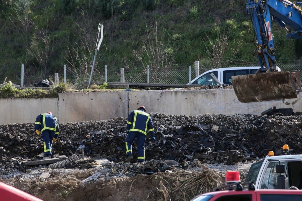
[[[127,115],[127,92],[59,94],[60,122],[100,121]]]

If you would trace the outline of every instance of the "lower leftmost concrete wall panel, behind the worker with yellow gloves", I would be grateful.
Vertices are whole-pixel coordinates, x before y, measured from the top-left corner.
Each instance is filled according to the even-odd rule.
[[[0,99],[0,124],[34,123],[47,111],[58,117],[58,98]]]

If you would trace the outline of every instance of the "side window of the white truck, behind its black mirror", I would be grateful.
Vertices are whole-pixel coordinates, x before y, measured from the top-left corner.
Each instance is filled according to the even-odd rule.
[[[277,189],[277,176],[275,166],[279,162],[270,162],[265,170],[264,177],[262,178],[261,189]],[[287,162],[282,162],[285,165],[285,189],[289,188],[288,182],[288,164]]]

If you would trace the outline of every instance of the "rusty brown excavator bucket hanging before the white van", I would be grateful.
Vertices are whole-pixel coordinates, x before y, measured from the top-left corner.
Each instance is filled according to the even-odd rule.
[[[240,102],[297,98],[301,89],[299,70],[237,75],[232,83]]]

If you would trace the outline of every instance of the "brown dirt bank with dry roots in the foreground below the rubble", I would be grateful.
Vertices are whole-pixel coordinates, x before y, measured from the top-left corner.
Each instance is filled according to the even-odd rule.
[[[194,196],[213,190],[221,185],[222,175],[198,164],[198,171],[173,169],[173,173],[138,174],[108,181],[82,183],[81,176],[89,170],[60,174],[50,171],[51,177],[44,182],[31,179],[10,180],[7,183],[33,194],[44,201],[97,201],[97,200],[190,200]]]

